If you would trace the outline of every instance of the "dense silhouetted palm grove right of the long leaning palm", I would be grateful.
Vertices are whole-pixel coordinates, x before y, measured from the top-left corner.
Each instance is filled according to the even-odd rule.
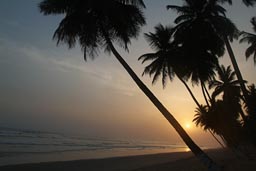
[[[239,149],[253,143],[256,145],[256,97],[255,86],[247,86],[238,67],[230,42],[239,38],[248,42],[246,58],[256,60],[256,37],[252,33],[240,32],[226,17],[223,3],[231,0],[184,0],[183,6],[168,5],[167,9],[177,12],[173,28],[158,25],[155,33],[145,34],[154,53],[142,55],[142,63],[152,61],[144,73],[153,76],[152,83],[162,75],[166,78],[176,75],[189,91],[197,105],[194,122],[204,130],[217,134],[227,147]],[[253,6],[256,1],[243,1]],[[251,19],[256,31],[256,18]],[[220,66],[219,58],[227,50],[231,66]],[[217,76],[217,77],[216,77]],[[237,79],[236,79],[236,78]],[[202,87],[204,104],[199,104],[187,82]],[[212,89],[212,94],[206,87]]]

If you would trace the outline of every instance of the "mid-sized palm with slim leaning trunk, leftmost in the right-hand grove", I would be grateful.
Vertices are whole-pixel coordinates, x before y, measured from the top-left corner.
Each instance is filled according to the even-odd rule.
[[[145,33],[146,40],[156,52],[146,53],[139,57],[142,63],[153,60],[153,62],[145,67],[142,75],[154,75],[152,79],[152,84],[154,84],[162,74],[163,87],[166,85],[166,78],[172,80],[176,75],[185,85],[192,99],[199,106],[199,102],[186,83],[188,74],[185,74],[186,67],[184,62],[182,62],[182,48],[176,42],[171,42],[173,31],[174,29],[172,27],[164,27],[159,24],[155,27],[155,33]]]

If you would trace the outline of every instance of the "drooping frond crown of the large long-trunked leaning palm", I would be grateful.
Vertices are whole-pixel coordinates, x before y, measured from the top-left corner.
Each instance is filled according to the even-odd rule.
[[[42,0],[40,12],[45,15],[64,14],[53,39],[73,48],[78,42],[90,57],[99,49],[111,49],[111,42],[128,51],[132,38],[137,38],[146,21],[143,0]],[[118,15],[117,15],[118,14]]]

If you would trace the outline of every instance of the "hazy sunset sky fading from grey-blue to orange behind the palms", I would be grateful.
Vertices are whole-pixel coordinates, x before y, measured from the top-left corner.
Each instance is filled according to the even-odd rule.
[[[83,60],[80,47],[56,46],[52,35],[61,16],[43,16],[39,0],[0,1],[0,127],[68,132],[89,137],[155,140],[181,143],[171,125],[138,89],[116,59],[100,53],[94,60]],[[118,48],[127,63],[170,110],[192,138],[201,145],[216,142],[192,123],[195,104],[176,79],[163,89],[141,76],[137,61],[152,52],[143,33],[153,32],[158,23],[173,25],[177,16],[166,5],[179,0],[145,0],[147,25],[130,51]],[[249,20],[255,9],[240,1],[228,7],[227,16],[240,30],[251,32]],[[244,79],[256,83],[253,60],[245,60],[246,44],[232,44]],[[221,62],[230,65],[225,55]],[[190,85],[203,103],[200,88]]]

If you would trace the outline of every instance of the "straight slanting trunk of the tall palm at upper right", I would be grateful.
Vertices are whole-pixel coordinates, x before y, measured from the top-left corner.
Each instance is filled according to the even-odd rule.
[[[235,58],[234,52],[233,52],[232,47],[231,47],[231,45],[229,43],[229,40],[228,40],[228,38],[226,36],[224,36],[224,42],[225,42],[225,45],[226,45],[226,48],[227,48],[227,51],[228,51],[231,63],[233,65],[234,71],[236,73],[237,79],[238,79],[238,81],[240,83],[241,90],[242,90],[242,93],[243,93],[244,98],[245,98],[245,102],[247,102],[248,91],[247,91],[247,89],[245,87],[244,79],[242,77],[242,74],[241,74],[240,69],[238,67],[238,64],[236,62],[236,58]]]

